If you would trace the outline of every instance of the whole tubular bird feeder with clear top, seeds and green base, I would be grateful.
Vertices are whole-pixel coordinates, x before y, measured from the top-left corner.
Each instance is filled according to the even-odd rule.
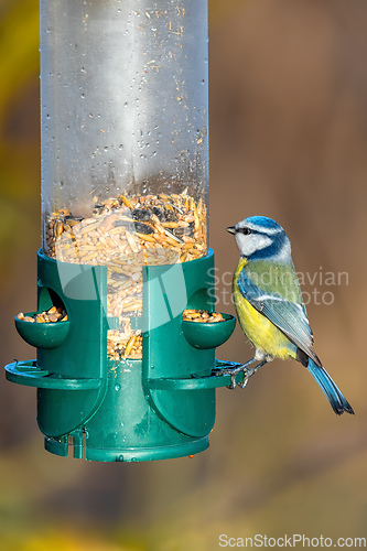
[[[235,318],[183,320],[215,310],[207,118],[206,0],[41,0],[43,242],[15,318],[36,359],[6,369],[51,453],[208,446]]]

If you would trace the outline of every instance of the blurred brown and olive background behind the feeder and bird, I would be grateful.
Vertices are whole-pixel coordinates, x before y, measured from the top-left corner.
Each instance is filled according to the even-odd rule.
[[[211,246],[228,298],[225,228],[277,219],[309,272],[315,349],[356,415],[337,418],[305,369],[274,361],[217,392],[208,451],[94,464],[43,451],[35,391],[0,380],[0,547],[219,549],[218,537],[367,537],[365,367],[367,3],[211,0]],[[34,349],[13,316],[35,305],[40,247],[39,6],[0,4],[1,365]],[[326,272],[347,272],[341,285]],[[321,283],[320,283],[320,273]],[[332,292],[333,303],[321,300]],[[227,294],[225,294],[227,293]],[[324,295],[326,298],[326,295]],[[327,295],[330,302],[331,295]],[[217,350],[246,360],[237,328]]]

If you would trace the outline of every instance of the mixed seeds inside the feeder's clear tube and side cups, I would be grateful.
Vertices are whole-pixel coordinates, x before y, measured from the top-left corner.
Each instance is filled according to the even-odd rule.
[[[206,205],[187,188],[172,195],[119,195],[100,203],[96,196],[94,203],[87,218],[65,207],[50,213],[43,248],[63,262],[107,266],[107,316],[119,318],[119,329],[107,332],[108,358],[139,359],[141,334],[131,329],[130,317],[142,315],[142,267],[205,256]]]

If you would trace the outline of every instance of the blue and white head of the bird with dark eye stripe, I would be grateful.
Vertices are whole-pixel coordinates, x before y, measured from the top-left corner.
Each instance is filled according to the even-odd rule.
[[[250,216],[227,228],[234,234],[241,257],[249,260],[291,260],[291,244],[283,228],[266,216]]]

